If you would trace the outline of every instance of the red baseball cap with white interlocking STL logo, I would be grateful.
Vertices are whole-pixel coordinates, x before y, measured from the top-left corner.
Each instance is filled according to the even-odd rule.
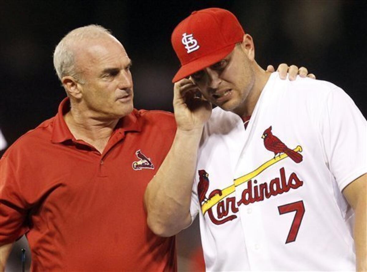
[[[171,43],[180,62],[176,82],[225,58],[245,32],[236,16],[221,8],[194,11],[176,26]]]

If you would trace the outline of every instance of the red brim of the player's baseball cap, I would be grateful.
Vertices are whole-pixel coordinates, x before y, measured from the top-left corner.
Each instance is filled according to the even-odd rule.
[[[172,82],[177,82],[182,78],[188,77],[191,74],[203,70],[204,68],[213,65],[221,59],[224,59],[230,52],[232,52],[233,48],[235,48],[236,43],[227,45],[224,48],[221,48],[209,55],[203,56],[196,60],[193,60],[185,65],[182,65],[178,72],[172,79]]]

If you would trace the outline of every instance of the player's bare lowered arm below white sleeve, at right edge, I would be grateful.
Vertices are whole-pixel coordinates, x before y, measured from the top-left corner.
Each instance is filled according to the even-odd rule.
[[[354,243],[356,247],[356,270],[367,271],[367,174],[349,183],[343,194],[355,212]]]

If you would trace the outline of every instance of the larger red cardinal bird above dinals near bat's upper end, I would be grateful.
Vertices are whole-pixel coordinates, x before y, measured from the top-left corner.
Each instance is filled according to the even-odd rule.
[[[264,131],[261,136],[264,139],[264,146],[267,150],[274,152],[274,158],[277,154],[284,152],[290,157],[294,162],[300,163],[302,161],[302,155],[294,150],[288,148],[278,137],[274,136],[272,133],[272,126]]]

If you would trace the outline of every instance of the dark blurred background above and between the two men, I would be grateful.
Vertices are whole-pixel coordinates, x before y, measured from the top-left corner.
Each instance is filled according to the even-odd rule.
[[[239,18],[260,66],[306,66],[343,88],[367,116],[366,1],[0,0],[0,128],[8,144],[55,115],[65,91],[53,68],[54,47],[70,30],[92,23],[112,30],[132,59],[135,107],[172,111],[179,62],[171,32],[207,7]]]

